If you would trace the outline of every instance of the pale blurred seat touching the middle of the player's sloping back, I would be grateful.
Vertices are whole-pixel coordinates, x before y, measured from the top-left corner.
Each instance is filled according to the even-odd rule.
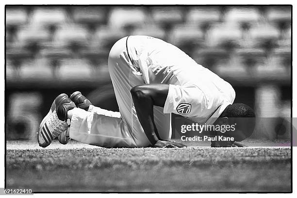
[[[203,32],[197,26],[177,25],[171,31],[168,42],[191,56],[194,48],[204,44]]]

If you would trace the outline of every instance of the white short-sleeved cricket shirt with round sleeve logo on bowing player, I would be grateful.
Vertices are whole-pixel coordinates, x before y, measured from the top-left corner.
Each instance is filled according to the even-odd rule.
[[[145,83],[169,84],[164,114],[213,124],[235,99],[230,83],[174,45],[149,36],[129,36],[127,49],[135,75],[142,76]]]

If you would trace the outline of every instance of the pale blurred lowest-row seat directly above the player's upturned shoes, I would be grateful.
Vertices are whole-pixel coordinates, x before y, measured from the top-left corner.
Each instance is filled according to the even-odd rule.
[[[92,66],[84,59],[62,60],[56,71],[56,77],[63,80],[87,80],[92,74]]]

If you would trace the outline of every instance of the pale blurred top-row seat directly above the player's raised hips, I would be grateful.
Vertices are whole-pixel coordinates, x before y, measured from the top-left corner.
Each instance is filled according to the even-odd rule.
[[[137,8],[114,8],[110,11],[108,24],[111,28],[126,29],[128,32],[147,22],[144,11]]]

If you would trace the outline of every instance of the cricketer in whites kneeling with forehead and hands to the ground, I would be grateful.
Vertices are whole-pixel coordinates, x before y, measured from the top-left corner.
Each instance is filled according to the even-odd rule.
[[[234,118],[255,117],[242,103],[233,103],[231,84],[198,65],[181,49],[150,36],[128,36],[110,50],[108,68],[119,112],[92,105],[81,92],[59,95],[38,130],[38,143],[47,147],[55,137],[105,148],[185,147],[171,141],[171,113],[198,124],[234,124]],[[224,133],[242,141],[254,122],[237,124]],[[240,126],[242,125],[242,126]],[[226,141],[212,146],[241,146]]]

